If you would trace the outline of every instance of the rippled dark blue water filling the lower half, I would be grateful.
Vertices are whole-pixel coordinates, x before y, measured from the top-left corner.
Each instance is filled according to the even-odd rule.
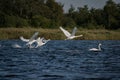
[[[89,51],[102,43],[101,52]],[[0,41],[0,80],[119,80],[120,41],[51,40],[28,49]]]

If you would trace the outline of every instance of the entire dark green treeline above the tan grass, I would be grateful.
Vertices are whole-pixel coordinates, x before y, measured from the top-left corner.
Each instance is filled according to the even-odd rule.
[[[120,28],[120,3],[108,0],[103,9],[88,9],[85,5],[75,10],[71,5],[68,13],[64,13],[63,6],[55,0],[0,0],[0,27]]]

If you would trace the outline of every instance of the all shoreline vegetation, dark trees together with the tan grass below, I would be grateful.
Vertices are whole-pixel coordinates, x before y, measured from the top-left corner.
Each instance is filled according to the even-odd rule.
[[[120,40],[120,3],[108,0],[103,9],[85,5],[75,10],[71,5],[68,13],[63,6],[55,0],[0,0],[0,39],[29,38],[35,31],[41,37],[64,39],[59,26],[77,26],[77,34],[84,35],[79,39]]]

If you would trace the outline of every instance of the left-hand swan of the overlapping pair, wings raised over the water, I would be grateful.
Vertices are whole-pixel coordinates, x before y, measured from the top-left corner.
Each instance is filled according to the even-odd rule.
[[[23,36],[20,37],[20,39],[24,42],[27,42],[26,45],[29,47],[29,48],[32,48],[32,43],[34,43],[36,41],[36,37],[38,36],[38,32],[35,32],[33,34],[33,36],[30,38],[30,39],[25,39]]]

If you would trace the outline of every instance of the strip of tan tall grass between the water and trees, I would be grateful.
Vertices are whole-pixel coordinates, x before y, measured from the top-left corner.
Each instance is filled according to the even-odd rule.
[[[42,28],[0,28],[0,39],[19,39],[20,36],[30,38],[34,32],[38,31],[40,37],[52,40],[65,39],[65,35],[60,29]],[[68,29],[71,32],[70,29]],[[120,40],[120,30],[105,29],[78,29],[76,35],[83,34],[80,40]]]

